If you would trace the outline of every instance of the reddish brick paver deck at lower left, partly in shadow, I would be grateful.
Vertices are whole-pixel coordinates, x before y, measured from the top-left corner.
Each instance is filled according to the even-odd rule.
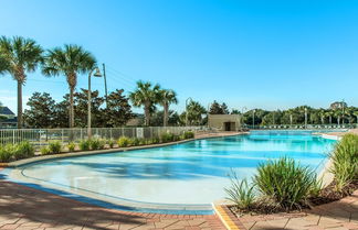
[[[119,211],[29,188],[0,178],[0,229],[224,230],[214,215]]]

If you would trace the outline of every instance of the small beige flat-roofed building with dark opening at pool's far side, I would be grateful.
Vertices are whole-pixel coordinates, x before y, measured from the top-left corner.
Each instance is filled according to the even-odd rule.
[[[241,128],[240,114],[209,114],[209,128],[221,131],[239,131]]]

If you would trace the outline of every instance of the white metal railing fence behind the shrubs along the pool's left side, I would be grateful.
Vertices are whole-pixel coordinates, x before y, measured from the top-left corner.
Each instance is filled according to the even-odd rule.
[[[159,138],[162,133],[182,134],[185,131],[202,131],[206,127],[141,127],[141,128],[93,128],[92,138],[116,140],[127,138]],[[80,142],[87,139],[87,129],[0,129],[0,144],[29,141],[34,145],[49,141]]]

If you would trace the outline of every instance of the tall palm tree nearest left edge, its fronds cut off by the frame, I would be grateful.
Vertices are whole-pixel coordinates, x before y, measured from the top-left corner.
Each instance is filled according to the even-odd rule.
[[[32,73],[42,62],[43,50],[35,41],[21,36],[0,37],[0,74],[9,73],[18,81],[18,128],[22,128],[22,86],[27,73]]]

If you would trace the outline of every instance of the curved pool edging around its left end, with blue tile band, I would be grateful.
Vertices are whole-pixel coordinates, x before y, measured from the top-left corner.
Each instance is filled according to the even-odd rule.
[[[161,143],[161,144],[152,144],[152,145],[143,145],[143,146],[131,146],[131,147],[117,147],[117,149],[110,149],[110,150],[102,150],[102,151],[86,151],[86,152],[75,152],[75,153],[63,153],[57,155],[45,155],[45,156],[35,156],[27,160],[20,160],[15,162],[11,162],[6,165],[0,165],[2,168],[1,173],[6,176],[4,180],[12,182],[15,184],[20,184],[23,186],[28,186],[31,188],[35,188],[42,191],[51,193],[61,197],[72,198],[74,200],[83,201],[91,205],[96,205],[99,207],[108,208],[108,209],[115,209],[115,210],[123,210],[123,211],[133,211],[133,212],[149,212],[149,213],[166,213],[166,215],[213,215],[214,210],[212,208],[212,204],[203,204],[203,205],[196,205],[196,204],[156,204],[156,202],[143,202],[137,200],[129,200],[131,202],[128,205],[128,202],[125,205],[120,204],[122,201],[126,201],[125,199],[122,199],[120,197],[117,200],[120,200],[119,202],[110,202],[102,199],[96,199],[90,196],[69,193],[65,190],[51,188],[51,186],[42,186],[36,183],[27,183],[21,182],[21,179],[15,179],[10,177],[10,173],[12,171],[21,169],[21,167],[32,164],[38,164],[41,162],[46,161],[55,161],[60,158],[69,158],[69,157],[81,157],[86,155],[95,155],[95,154],[108,154],[114,152],[126,152],[126,151],[135,151],[135,150],[145,150],[145,149],[154,149],[154,147],[162,147],[162,146],[170,146],[176,144],[182,144],[187,142],[192,142],[197,140],[206,140],[206,139],[215,139],[215,138],[225,138],[225,136],[234,136],[234,135],[242,135],[246,134],[243,132],[236,132],[236,133],[225,133],[224,135],[212,135],[212,136],[198,136],[194,139],[188,139],[177,142],[169,142],[169,143]],[[127,200],[128,201],[128,200]]]

